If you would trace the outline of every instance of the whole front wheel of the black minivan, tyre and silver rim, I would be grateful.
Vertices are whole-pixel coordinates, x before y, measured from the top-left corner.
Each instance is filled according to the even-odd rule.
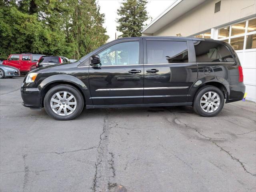
[[[71,120],[82,112],[84,99],[73,86],[59,85],[46,93],[44,108],[47,114],[56,120]]]

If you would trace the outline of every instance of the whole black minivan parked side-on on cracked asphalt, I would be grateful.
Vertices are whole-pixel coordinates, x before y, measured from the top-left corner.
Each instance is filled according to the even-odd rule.
[[[242,67],[230,44],[185,37],[120,38],[74,63],[38,68],[21,86],[23,105],[57,120],[86,108],[193,106],[216,116],[242,100]]]

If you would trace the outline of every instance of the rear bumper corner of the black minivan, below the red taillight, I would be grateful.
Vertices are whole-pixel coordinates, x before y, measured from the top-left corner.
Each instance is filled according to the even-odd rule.
[[[229,85],[229,94],[226,103],[240,101],[244,98],[245,85],[244,83]]]

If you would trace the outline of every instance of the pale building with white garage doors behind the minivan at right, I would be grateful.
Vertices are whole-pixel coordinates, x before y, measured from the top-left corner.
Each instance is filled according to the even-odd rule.
[[[256,0],[176,0],[142,36],[190,36],[230,43],[244,72],[246,99],[256,102]]]

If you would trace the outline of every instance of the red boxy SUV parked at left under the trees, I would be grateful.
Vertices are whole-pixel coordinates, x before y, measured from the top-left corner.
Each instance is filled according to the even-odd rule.
[[[26,73],[36,68],[36,63],[41,56],[43,55],[31,53],[10,54],[8,59],[3,61],[3,64],[16,67],[20,72]]]

